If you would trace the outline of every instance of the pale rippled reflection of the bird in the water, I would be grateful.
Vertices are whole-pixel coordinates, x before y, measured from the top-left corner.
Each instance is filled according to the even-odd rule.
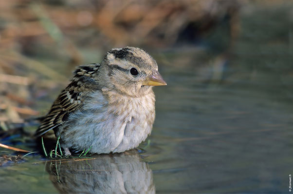
[[[60,193],[155,193],[152,171],[136,150],[47,162],[46,170]]]

